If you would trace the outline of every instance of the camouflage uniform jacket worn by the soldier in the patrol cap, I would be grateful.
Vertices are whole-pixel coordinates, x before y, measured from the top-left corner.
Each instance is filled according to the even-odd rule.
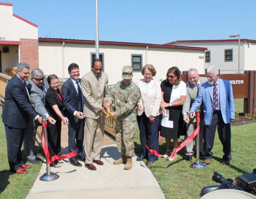
[[[114,113],[118,121],[136,121],[137,102],[140,100],[140,89],[135,83],[125,85],[123,80],[116,83],[106,101],[114,104]]]

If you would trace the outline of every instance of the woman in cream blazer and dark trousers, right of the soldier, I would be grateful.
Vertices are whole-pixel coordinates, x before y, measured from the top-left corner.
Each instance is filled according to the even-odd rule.
[[[161,120],[161,88],[160,83],[152,78],[156,75],[153,65],[146,64],[141,73],[144,78],[138,80],[136,84],[141,92],[141,99],[138,102],[137,122],[140,130],[142,154],[137,158],[137,161],[148,158],[146,163],[151,164],[157,161],[158,157],[147,150],[146,144],[150,149],[156,151],[159,149],[158,131]]]

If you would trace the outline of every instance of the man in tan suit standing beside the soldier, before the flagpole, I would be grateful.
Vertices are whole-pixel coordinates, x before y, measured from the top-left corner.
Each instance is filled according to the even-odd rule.
[[[105,86],[108,83],[108,75],[102,70],[102,62],[95,59],[92,62],[92,70],[81,79],[81,86],[84,95],[83,114],[85,117],[85,167],[96,170],[93,162],[103,165],[100,160],[100,153],[103,144],[105,109],[103,97]]]

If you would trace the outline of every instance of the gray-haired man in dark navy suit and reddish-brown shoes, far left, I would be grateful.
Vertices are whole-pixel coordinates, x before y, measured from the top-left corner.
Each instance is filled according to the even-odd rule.
[[[7,141],[7,155],[10,170],[16,173],[28,173],[31,168],[24,164],[21,155],[21,146],[29,117],[42,121],[42,117],[31,107],[26,82],[29,76],[29,65],[19,63],[17,74],[8,82],[5,88],[2,120],[5,127]]]

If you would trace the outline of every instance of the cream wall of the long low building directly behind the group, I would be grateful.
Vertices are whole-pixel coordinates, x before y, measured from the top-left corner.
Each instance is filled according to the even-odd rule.
[[[181,71],[195,67],[200,73],[204,71],[204,50],[152,48],[140,46],[101,45],[99,52],[104,55],[104,72],[109,76],[109,84],[122,79],[122,67],[131,65],[132,54],[142,55],[142,66],[155,66],[157,80],[165,79],[168,68],[177,66]],[[68,78],[68,65],[75,62],[80,67],[80,75],[91,69],[91,53],[95,53],[94,44],[41,42],[39,40],[39,68],[45,74],[56,74]],[[133,80],[143,78],[140,71],[134,71]]]

